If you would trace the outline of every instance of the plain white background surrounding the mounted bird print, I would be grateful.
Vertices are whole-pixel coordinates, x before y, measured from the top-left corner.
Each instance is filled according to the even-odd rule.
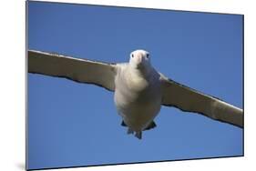
[[[53,0],[55,1],[55,0]],[[247,170],[255,167],[256,118],[252,107],[255,85],[255,8],[250,0],[57,0],[57,2],[137,6],[245,15],[245,157],[189,160],[124,166],[94,166],[62,170]],[[1,4],[0,170],[25,169],[25,1]],[[254,40],[254,41],[253,41]],[[251,78],[251,79],[250,79]],[[253,80],[254,79],[254,80]],[[254,134],[255,135],[255,134]],[[156,146],[157,147],[157,146]]]

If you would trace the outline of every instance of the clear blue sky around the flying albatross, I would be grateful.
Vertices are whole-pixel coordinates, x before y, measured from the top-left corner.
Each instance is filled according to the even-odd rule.
[[[145,49],[159,72],[242,108],[242,15],[28,3],[28,48],[104,62]],[[142,140],[114,94],[28,74],[28,168],[243,155],[243,130],[162,106]]]

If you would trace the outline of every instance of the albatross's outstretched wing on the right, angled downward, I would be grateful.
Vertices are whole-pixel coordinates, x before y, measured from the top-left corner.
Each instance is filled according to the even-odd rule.
[[[160,74],[161,75],[161,74]],[[208,96],[160,76],[162,105],[175,106],[185,112],[195,112],[234,126],[243,127],[243,110],[216,97]]]

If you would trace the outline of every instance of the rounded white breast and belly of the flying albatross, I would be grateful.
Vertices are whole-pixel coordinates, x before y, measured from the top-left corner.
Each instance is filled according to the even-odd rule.
[[[120,68],[114,98],[118,113],[132,130],[142,131],[160,110],[159,74],[154,70],[145,78],[125,65]]]

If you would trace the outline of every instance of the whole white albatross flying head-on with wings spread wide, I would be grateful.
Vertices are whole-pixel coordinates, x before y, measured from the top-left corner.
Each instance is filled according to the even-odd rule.
[[[141,139],[142,131],[156,126],[161,106],[174,106],[233,126],[243,127],[243,110],[216,97],[181,85],[150,64],[149,53],[136,50],[128,63],[107,64],[67,55],[28,50],[28,72],[64,77],[102,86],[114,92],[122,126]]]

